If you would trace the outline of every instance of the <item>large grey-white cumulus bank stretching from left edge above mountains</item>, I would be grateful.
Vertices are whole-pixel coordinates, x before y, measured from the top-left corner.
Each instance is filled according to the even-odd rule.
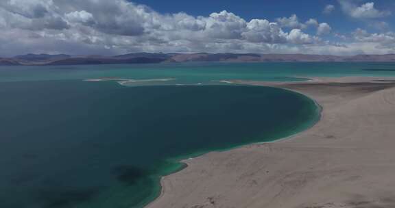
[[[226,10],[208,16],[160,14],[126,0],[1,0],[0,28],[1,55],[324,53],[320,46],[331,46],[328,53],[335,53],[340,48],[318,38],[331,33],[331,26],[315,18],[301,22],[294,14],[246,21]]]

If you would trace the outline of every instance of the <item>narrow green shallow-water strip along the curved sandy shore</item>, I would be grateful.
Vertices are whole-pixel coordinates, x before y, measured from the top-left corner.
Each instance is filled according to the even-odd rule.
[[[252,86],[252,85],[248,85],[246,84],[246,86]],[[313,128],[315,125],[318,124],[318,122],[320,122],[321,118],[322,118],[322,112],[324,110],[324,108],[322,107],[322,105],[320,105],[320,103],[318,103],[318,101],[316,101],[315,99],[313,99],[311,96],[308,96],[307,94],[304,94],[302,92],[298,92],[296,90],[290,90],[287,88],[280,88],[280,87],[273,87],[273,86],[261,86],[264,88],[278,88],[278,89],[282,89],[282,90],[287,90],[289,92],[295,93],[295,94],[299,94],[300,96],[304,96],[304,98],[309,99],[311,101],[314,102],[316,109],[316,118],[307,122],[306,124],[302,125],[302,127],[300,127],[300,129],[296,129],[295,132],[291,133],[290,135],[287,135],[285,137],[280,137],[280,138],[274,138],[272,141],[269,142],[251,142],[248,144],[241,144],[241,145],[237,145],[237,146],[233,146],[230,148],[223,148],[223,149],[218,149],[215,151],[207,151],[204,153],[191,153],[190,155],[181,155],[180,157],[177,158],[177,164],[180,164],[180,166],[178,168],[176,168],[176,170],[173,170],[167,174],[163,174],[162,176],[160,176],[160,181],[159,181],[159,190],[158,193],[156,193],[154,196],[147,198],[147,200],[145,202],[142,202],[142,207],[148,207],[149,205],[151,205],[152,203],[155,203],[156,200],[158,200],[160,197],[163,196],[163,194],[165,194],[164,192],[164,185],[163,185],[163,180],[165,179],[165,177],[168,177],[171,174],[174,174],[176,172],[180,172],[182,170],[184,170],[185,168],[188,168],[188,164],[185,162],[187,159],[193,159],[193,158],[197,158],[197,157],[202,157],[203,155],[206,155],[208,153],[214,153],[214,152],[225,152],[225,151],[232,151],[235,150],[237,148],[243,148],[244,146],[248,146],[248,145],[254,145],[254,144],[266,144],[266,143],[272,143],[272,142],[280,142],[283,140],[289,140],[291,138],[294,138],[294,136],[304,132],[304,131],[308,131],[309,129]]]

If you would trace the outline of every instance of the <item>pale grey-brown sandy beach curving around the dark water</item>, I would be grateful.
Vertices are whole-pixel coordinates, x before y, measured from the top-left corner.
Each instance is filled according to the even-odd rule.
[[[187,159],[149,208],[395,207],[395,83],[380,77],[233,81],[306,94],[311,129],[278,142]],[[292,103],[289,103],[292,105]]]

